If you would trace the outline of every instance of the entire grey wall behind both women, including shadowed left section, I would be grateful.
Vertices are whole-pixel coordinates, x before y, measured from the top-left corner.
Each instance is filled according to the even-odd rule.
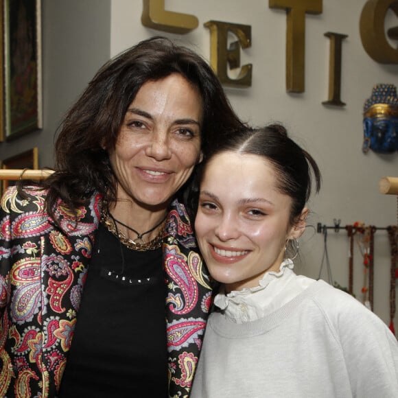
[[[381,65],[364,51],[359,34],[367,0],[325,0],[323,13],[307,15],[305,27],[305,93],[285,91],[284,10],[272,10],[264,0],[167,0],[167,9],[198,17],[196,30],[186,35],[165,34],[141,24],[141,0],[41,0],[43,8],[43,124],[15,141],[0,143],[0,160],[39,148],[39,166],[53,164],[56,127],[76,97],[110,56],[149,36],[163,34],[194,47],[209,59],[210,20],[242,23],[253,30],[253,45],[241,51],[242,65],[253,63],[253,85],[228,89],[229,100],[243,119],[254,125],[282,121],[292,137],[318,161],[323,189],[309,202],[309,224],[341,225],[363,221],[387,226],[397,222],[397,198],[379,194],[379,178],[398,175],[398,153],[362,153],[362,107],[373,84],[398,84],[397,65]],[[387,15],[396,25],[396,16]],[[329,40],[325,32],[347,34],[342,49],[344,108],[327,108]],[[328,251],[333,281],[348,283],[347,233],[330,231]],[[301,264],[296,271],[318,277],[323,258],[323,236],[309,228],[301,239]],[[361,301],[364,267],[355,244],[354,292]],[[385,231],[375,236],[375,314],[389,322],[390,248]],[[323,275],[326,279],[325,268]],[[398,311],[395,325],[398,324]]]

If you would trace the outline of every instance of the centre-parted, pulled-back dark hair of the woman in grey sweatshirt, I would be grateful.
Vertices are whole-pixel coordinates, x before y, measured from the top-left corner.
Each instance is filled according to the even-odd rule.
[[[315,178],[316,192],[320,189],[321,176],[318,165],[308,152],[288,137],[288,132],[281,124],[235,130],[220,145],[210,150],[207,161],[211,161],[216,154],[227,151],[263,156],[274,165],[279,177],[279,191],[292,198],[290,224],[293,224],[301,214],[311,195],[312,174]],[[198,191],[204,167],[206,162],[196,170],[187,198],[191,217],[194,217],[197,209]]]

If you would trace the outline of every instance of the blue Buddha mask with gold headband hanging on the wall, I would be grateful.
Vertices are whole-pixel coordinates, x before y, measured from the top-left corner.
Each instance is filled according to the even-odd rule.
[[[398,99],[393,84],[377,84],[364,104],[362,151],[388,154],[398,150]]]

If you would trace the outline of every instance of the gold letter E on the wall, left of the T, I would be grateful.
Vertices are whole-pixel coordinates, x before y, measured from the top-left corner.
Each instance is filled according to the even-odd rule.
[[[204,23],[210,30],[210,63],[222,84],[235,87],[248,87],[252,83],[252,64],[242,66],[236,79],[229,78],[228,66],[231,69],[240,67],[240,49],[251,45],[250,25],[238,25],[220,21]],[[232,33],[234,41],[227,49],[228,34]]]

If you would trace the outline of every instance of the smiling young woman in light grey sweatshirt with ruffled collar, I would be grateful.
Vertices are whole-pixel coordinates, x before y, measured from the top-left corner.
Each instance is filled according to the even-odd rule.
[[[312,174],[318,191],[314,159],[279,125],[235,132],[203,166],[196,236],[221,287],[191,397],[398,396],[393,333],[293,271]]]

